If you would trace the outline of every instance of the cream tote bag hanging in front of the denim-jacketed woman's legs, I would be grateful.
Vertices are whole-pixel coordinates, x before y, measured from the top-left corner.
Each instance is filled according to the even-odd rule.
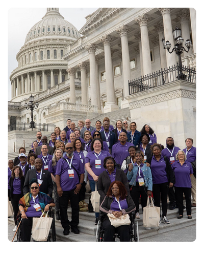
[[[149,197],[147,197],[147,205],[143,208],[143,227],[159,227],[160,221],[160,207],[154,206],[151,199],[151,205],[149,204]]]

